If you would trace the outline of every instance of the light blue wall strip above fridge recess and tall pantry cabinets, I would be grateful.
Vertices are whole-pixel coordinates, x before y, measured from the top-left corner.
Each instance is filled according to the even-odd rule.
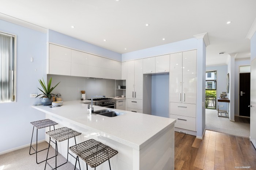
[[[161,46],[146,48],[143,50],[128,52],[122,54],[122,61],[135,60],[165,54],[171,54],[181,51],[197,49],[197,40],[195,38],[177,41],[175,43],[164,44]]]

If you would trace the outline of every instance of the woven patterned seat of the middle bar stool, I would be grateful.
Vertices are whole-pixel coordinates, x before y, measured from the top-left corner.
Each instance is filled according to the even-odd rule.
[[[75,130],[69,129],[67,127],[62,127],[60,129],[55,129],[49,132],[46,132],[51,138],[55,139],[58,142],[65,141],[66,139],[76,137],[82,133],[79,133]]]

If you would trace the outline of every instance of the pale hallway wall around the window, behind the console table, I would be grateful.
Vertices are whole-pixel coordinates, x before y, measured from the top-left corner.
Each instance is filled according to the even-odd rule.
[[[220,66],[206,66],[206,71],[217,70],[217,92],[216,98],[218,99],[219,94],[222,91],[227,91],[227,65],[220,65]],[[216,99],[216,109],[218,110],[218,102]],[[221,110],[227,110],[227,103],[220,102],[219,103]]]

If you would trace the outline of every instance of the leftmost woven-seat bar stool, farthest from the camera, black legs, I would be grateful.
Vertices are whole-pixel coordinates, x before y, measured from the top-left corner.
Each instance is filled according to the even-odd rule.
[[[33,124],[33,131],[32,131],[32,137],[31,137],[31,142],[30,142],[30,149],[29,149],[29,154],[30,155],[33,155],[35,154],[36,155],[36,161],[37,161],[37,153],[38,152],[41,152],[43,150],[46,150],[48,148],[45,148],[43,150],[40,150],[40,151],[37,151],[37,145],[36,145],[36,150],[34,149],[34,147],[32,146],[32,139],[33,139],[33,133],[34,133],[34,128],[36,127],[37,128],[37,134],[38,134],[38,129],[42,129],[44,127],[50,127],[50,130],[51,130],[51,126],[53,126],[53,128],[55,129],[54,125],[58,124],[50,119],[44,119],[44,120],[38,120],[38,121],[35,121],[35,122],[30,122],[31,124]],[[51,142],[51,140],[49,141],[49,143]],[[52,141],[53,142],[53,141]],[[54,143],[54,142],[53,142]],[[55,143],[54,143],[55,144]],[[31,154],[30,151],[31,151],[31,147],[32,149],[35,151],[35,153]],[[58,148],[57,148],[58,150]],[[50,159],[50,158],[49,158]],[[44,160],[46,161],[46,160]],[[41,161],[41,162],[37,162],[38,163],[42,163],[44,161]]]

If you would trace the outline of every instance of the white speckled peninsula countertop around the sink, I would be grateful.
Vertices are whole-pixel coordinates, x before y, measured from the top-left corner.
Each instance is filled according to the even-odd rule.
[[[32,107],[85,129],[105,133],[108,138],[136,150],[142,149],[176,122],[175,119],[125,110],[118,110],[126,114],[116,117],[93,115],[87,111],[87,104],[81,103],[84,101],[73,100],[64,102],[63,106],[53,108],[42,105]],[[100,106],[93,107],[94,111],[106,108]],[[117,109],[111,108],[110,110]]]

